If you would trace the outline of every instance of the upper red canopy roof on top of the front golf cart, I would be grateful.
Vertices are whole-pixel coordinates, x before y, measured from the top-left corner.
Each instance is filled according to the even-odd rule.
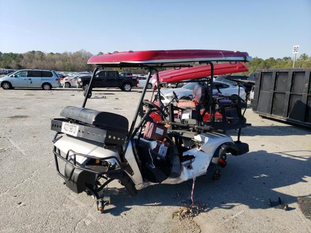
[[[146,50],[115,52],[92,56],[87,64],[98,65],[153,65],[193,63],[200,61],[251,61],[247,52],[226,50]]]

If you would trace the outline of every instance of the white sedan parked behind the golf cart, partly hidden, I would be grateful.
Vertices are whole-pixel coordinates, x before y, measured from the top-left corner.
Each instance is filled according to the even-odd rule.
[[[161,100],[164,104],[169,103],[173,99],[173,91],[176,93],[178,99],[192,100],[193,99],[193,88],[197,83],[187,83],[181,88],[175,89],[161,89]],[[223,83],[219,81],[213,82],[213,94],[219,93],[216,85],[219,88],[220,94],[224,96],[237,96],[239,94],[239,87],[231,85],[229,83]],[[244,88],[240,87],[240,97],[245,100],[246,92]]]

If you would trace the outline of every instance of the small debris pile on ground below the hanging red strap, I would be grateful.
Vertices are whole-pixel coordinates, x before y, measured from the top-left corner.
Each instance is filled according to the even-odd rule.
[[[183,206],[180,206],[177,211],[172,213],[172,218],[178,217],[179,220],[193,218],[206,211],[205,204],[192,205],[191,203],[184,203]]]

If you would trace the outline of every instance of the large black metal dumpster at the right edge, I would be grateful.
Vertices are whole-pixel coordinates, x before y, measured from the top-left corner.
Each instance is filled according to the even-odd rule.
[[[311,68],[259,69],[253,111],[311,127]]]

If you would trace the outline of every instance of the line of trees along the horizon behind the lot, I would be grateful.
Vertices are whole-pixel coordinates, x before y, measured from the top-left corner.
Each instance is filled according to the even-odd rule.
[[[117,52],[117,51],[115,51]],[[103,54],[99,52],[97,55]],[[56,71],[91,71],[94,65],[87,65],[87,60],[93,54],[86,50],[63,53],[45,53],[42,51],[29,51],[25,53],[2,53],[0,52],[0,68],[7,69],[50,69]],[[256,69],[269,68],[291,68],[293,67],[292,57],[261,59],[253,58],[253,61],[246,64],[249,68],[248,74]],[[301,54],[295,61],[295,67],[311,67],[311,56]],[[123,70],[123,69],[122,69]],[[130,69],[125,69],[130,70]],[[143,70],[139,72],[144,73]]]

